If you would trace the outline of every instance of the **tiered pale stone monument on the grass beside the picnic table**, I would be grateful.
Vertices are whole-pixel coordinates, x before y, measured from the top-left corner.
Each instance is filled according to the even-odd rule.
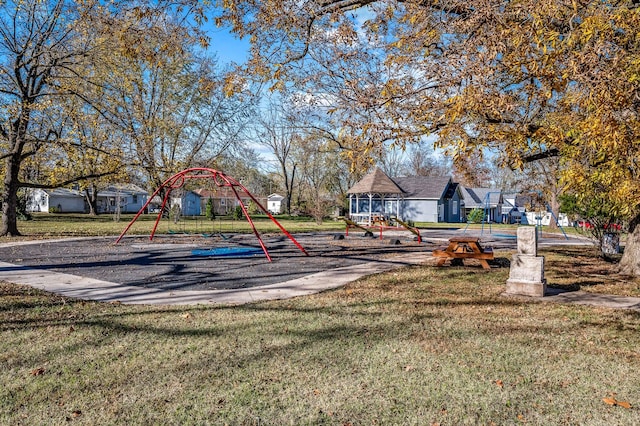
[[[544,278],[544,257],[538,256],[536,228],[521,226],[517,237],[518,253],[511,257],[506,293],[542,297],[547,290],[547,280]]]

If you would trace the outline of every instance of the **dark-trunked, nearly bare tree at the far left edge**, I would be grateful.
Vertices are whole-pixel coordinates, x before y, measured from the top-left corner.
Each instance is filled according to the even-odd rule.
[[[0,235],[19,235],[23,163],[60,138],[54,82],[79,72],[90,44],[72,25],[82,11],[63,0],[0,3],[0,149],[4,161]]]

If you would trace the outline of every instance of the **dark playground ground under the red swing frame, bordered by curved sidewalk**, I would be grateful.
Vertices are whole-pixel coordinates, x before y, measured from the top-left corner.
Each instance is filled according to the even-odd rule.
[[[411,237],[338,239],[341,234],[296,234],[306,256],[286,236],[262,235],[269,262],[253,234],[90,238],[0,247],[4,262],[123,285],[165,290],[251,288],[316,272],[432,250]],[[224,256],[215,255],[223,249]],[[208,250],[213,250],[207,255]],[[235,254],[234,254],[235,253]]]

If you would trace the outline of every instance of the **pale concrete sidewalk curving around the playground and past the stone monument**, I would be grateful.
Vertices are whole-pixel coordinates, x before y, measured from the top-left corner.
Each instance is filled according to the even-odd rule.
[[[437,239],[438,236],[431,236],[431,238],[433,237]],[[442,238],[444,237],[443,235]],[[68,242],[92,238],[63,238],[45,240],[45,242]],[[3,243],[2,246],[17,247],[42,242],[43,240],[16,241]],[[566,242],[563,241],[562,243]],[[150,305],[244,304],[319,293],[344,286],[367,275],[378,274],[408,265],[429,263],[432,259],[430,251],[415,252],[410,255],[405,253],[392,258],[333,268],[280,283],[220,290],[162,290],[137,285],[124,285],[6,262],[0,262],[0,280],[31,286],[62,296],[101,302]],[[640,298],[638,297],[604,295],[584,291],[561,292],[555,289],[548,289],[545,297],[528,298],[528,300],[628,309],[640,312]]]

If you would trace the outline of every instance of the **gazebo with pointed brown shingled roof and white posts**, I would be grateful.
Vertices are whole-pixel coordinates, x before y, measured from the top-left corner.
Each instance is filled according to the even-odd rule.
[[[349,217],[360,225],[371,226],[390,217],[400,218],[404,191],[379,168],[363,177],[349,194]]]

